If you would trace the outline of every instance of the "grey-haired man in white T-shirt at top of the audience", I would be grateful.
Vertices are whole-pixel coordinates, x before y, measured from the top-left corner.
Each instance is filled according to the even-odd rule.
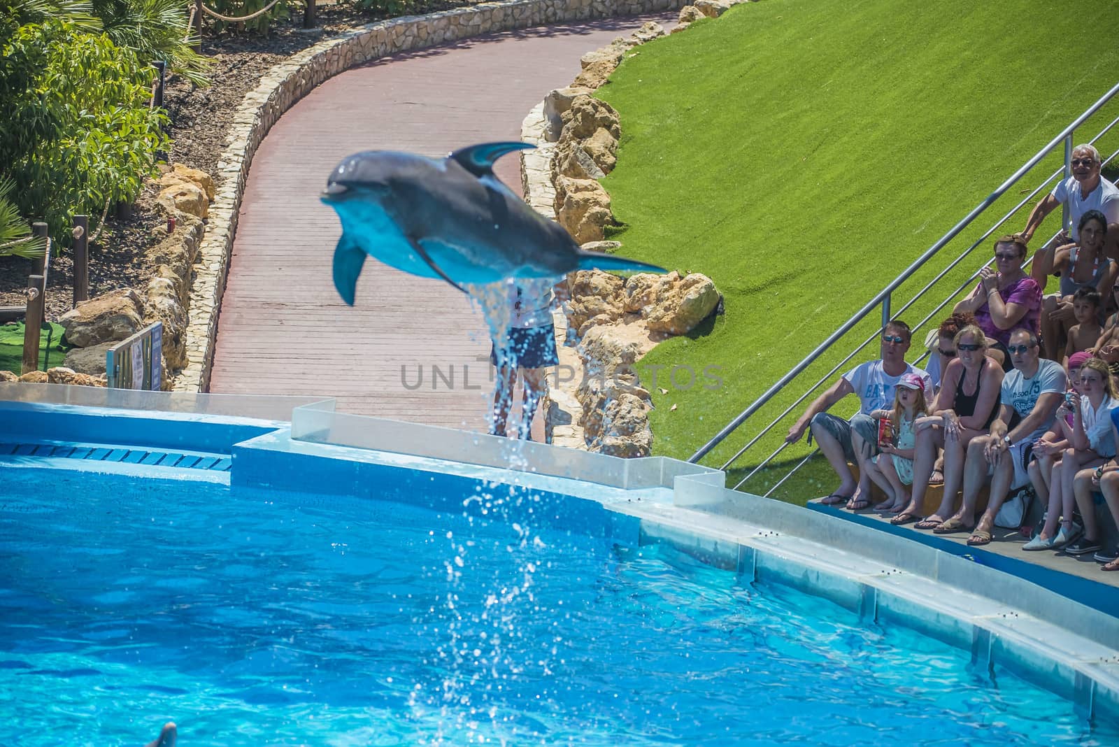
[[[1070,162],[1072,176],[1063,180],[1029,212],[1029,219],[1022,231],[1022,238],[1029,243],[1034,231],[1045,220],[1045,216],[1061,206],[1069,208],[1070,225],[1064,226],[1056,238],[1034,255],[1034,267],[1041,266],[1038,255],[1042,252],[1053,252],[1056,247],[1080,239],[1078,225],[1080,216],[1089,210],[1099,210],[1108,219],[1108,234],[1103,244],[1103,253],[1112,259],[1119,259],[1119,187],[1100,177],[1100,152],[1092,145],[1076,145],[1072,149]],[[1052,264],[1052,263],[1051,263]],[[1045,265],[1050,266],[1050,265]],[[1045,287],[1045,276],[1034,276],[1037,284]]]

